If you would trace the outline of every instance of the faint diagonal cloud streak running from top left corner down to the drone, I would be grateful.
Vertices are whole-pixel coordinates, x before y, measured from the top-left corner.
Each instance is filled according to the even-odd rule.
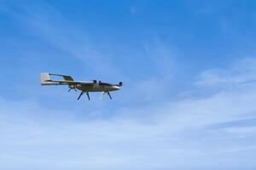
[[[86,71],[93,72],[94,76],[121,77],[118,66],[113,65],[113,56],[102,53],[97,47],[99,43],[93,41],[94,37],[81,27],[74,26],[49,3],[39,1],[29,5],[17,2],[4,4],[2,12],[13,17],[24,32],[50,43],[66,55],[57,57],[59,62],[67,58],[78,59],[78,69],[79,63],[82,62],[86,65]],[[26,56],[30,53],[26,48],[20,50],[20,53]]]

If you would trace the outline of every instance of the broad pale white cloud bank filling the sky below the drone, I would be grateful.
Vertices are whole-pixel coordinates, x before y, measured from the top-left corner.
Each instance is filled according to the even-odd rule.
[[[247,69],[253,59],[245,60],[237,61],[243,69],[235,64],[226,70],[236,70],[228,83],[253,74]],[[0,167],[250,169],[256,166],[255,89],[253,83],[237,83],[207,97],[119,108],[96,120],[1,99]]]

